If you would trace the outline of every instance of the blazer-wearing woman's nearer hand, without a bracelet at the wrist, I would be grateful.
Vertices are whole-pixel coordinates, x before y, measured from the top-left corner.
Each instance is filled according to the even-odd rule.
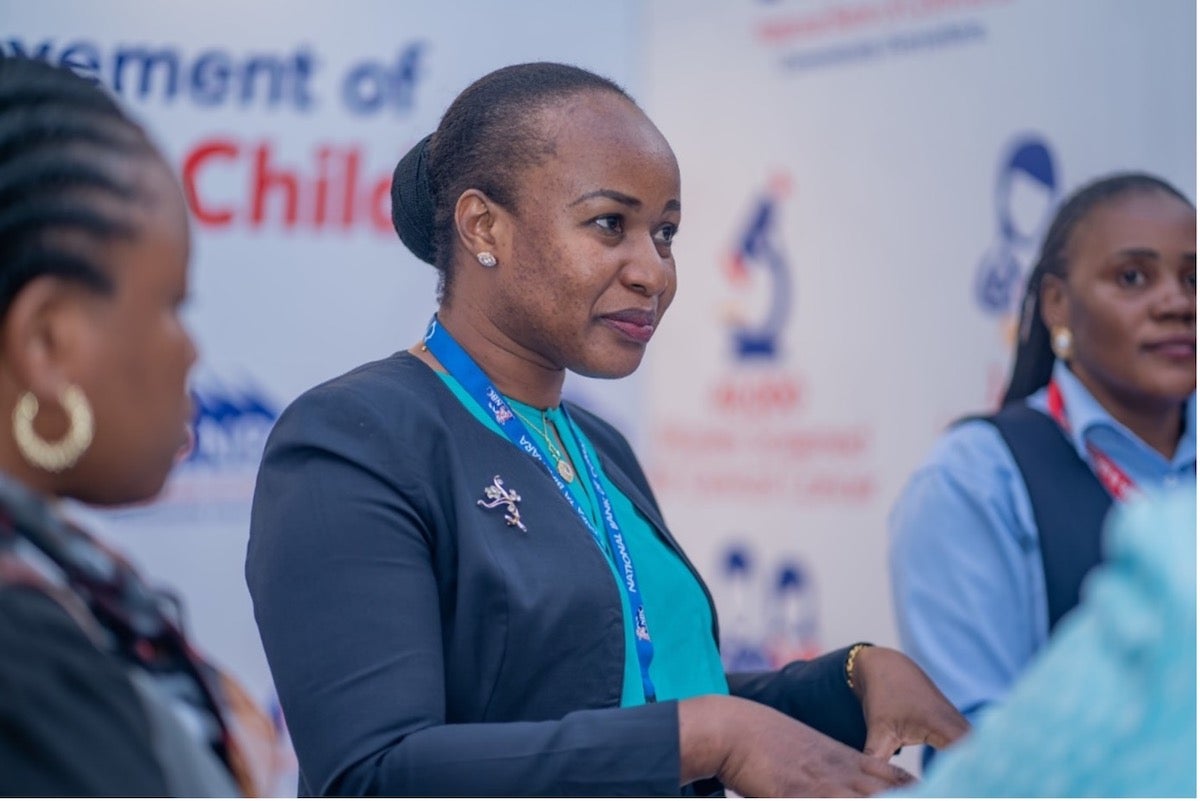
[[[782,712],[742,698],[679,701],[680,782],[715,776],[746,797],[866,796],[913,781]]]

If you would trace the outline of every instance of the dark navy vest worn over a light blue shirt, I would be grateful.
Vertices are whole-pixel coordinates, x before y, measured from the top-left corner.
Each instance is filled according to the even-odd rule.
[[[1084,577],[1100,564],[1100,532],[1112,496],[1058,423],[1024,401],[980,420],[1000,432],[1030,493],[1054,631],[1079,603]]]

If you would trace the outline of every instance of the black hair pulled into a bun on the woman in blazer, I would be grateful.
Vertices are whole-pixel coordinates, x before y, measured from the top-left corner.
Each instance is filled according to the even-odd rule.
[[[566,64],[533,62],[502,67],[464,89],[437,131],[396,164],[391,221],[401,241],[442,273],[449,290],[455,204],[470,188],[515,210],[522,170],[553,153],[538,127],[538,113],[568,97],[604,91],[632,98],[612,80]],[[636,103],[635,103],[636,106]]]

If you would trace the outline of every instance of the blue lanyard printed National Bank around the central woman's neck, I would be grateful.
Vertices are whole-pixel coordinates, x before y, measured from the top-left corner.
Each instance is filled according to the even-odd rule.
[[[437,314],[430,320],[430,327],[425,332],[425,347],[442,362],[446,372],[462,385],[467,393],[475,399],[475,403],[491,415],[492,420],[504,432],[504,435],[509,438],[509,441],[536,459],[538,464],[546,470],[546,474],[553,480],[554,486],[558,487],[558,492],[570,504],[571,508],[575,510],[576,516],[578,516],[583,525],[587,526],[593,540],[600,544],[602,542],[600,532],[592,524],[588,513],[576,502],[575,496],[571,495],[571,490],[550,466],[550,462],[542,457],[541,450],[529,435],[529,429],[512,412],[504,396],[499,393],[491,379],[475,363],[475,360],[462,349],[462,345],[455,341],[449,331],[438,324]],[[566,417],[565,408],[563,409],[563,416]],[[604,484],[600,481],[600,471],[596,470],[592,457],[588,456],[587,447],[583,446],[583,442],[576,435],[575,423],[570,417],[566,417],[566,421],[569,423],[568,429],[575,439],[580,453],[583,456],[584,464],[587,464],[588,477],[592,478],[592,488],[595,490],[596,500],[600,505],[605,530],[612,547],[612,555],[617,560],[617,567],[624,577],[623,586],[629,598],[629,608],[634,614],[634,642],[637,646],[637,664],[642,670],[642,691],[646,693],[646,701],[649,704],[655,699],[654,682],[650,680],[650,661],[654,658],[654,643],[650,640],[650,630],[646,622],[646,604],[642,603],[642,592],[638,589],[634,560],[629,554],[629,548],[625,547],[625,537],[622,535],[620,525],[617,523],[612,501],[608,500],[608,493],[605,492]]]

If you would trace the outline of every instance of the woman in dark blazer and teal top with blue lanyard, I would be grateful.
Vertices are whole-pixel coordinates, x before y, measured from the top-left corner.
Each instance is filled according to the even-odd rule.
[[[678,167],[624,91],[493,72],[392,204],[438,312],[282,415],[254,496],[246,574],[301,791],[863,795],[907,781],[899,746],[965,730],[890,649],[726,676],[636,457],[562,402],[568,369],[636,369],[674,294]]]

